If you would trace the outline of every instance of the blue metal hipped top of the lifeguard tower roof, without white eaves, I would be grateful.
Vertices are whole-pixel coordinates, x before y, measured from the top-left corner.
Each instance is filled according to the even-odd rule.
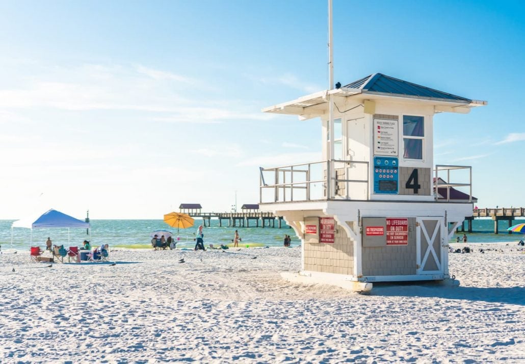
[[[363,93],[367,94],[392,94],[393,96],[421,97],[467,103],[472,101],[465,97],[456,96],[443,91],[435,90],[433,88],[413,84],[412,82],[386,76],[381,73],[363,77],[343,87],[359,88],[363,90]]]

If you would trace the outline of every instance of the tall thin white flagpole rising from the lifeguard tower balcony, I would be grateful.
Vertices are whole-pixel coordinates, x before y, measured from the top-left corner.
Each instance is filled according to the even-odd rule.
[[[328,75],[329,75],[329,85],[328,90],[333,89],[333,33],[332,33],[332,0],[328,0]],[[335,186],[332,183],[332,179],[335,177],[335,169],[333,165],[334,159],[334,130],[333,130],[333,99],[328,95],[328,130],[330,133],[330,142],[328,145],[328,160],[329,160],[329,170],[327,171],[327,197],[332,198],[335,194]]]

